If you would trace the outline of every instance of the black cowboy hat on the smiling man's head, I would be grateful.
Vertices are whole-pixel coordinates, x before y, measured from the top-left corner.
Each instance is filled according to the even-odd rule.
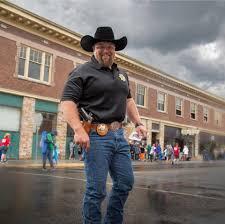
[[[89,35],[83,36],[80,45],[85,51],[93,52],[94,44],[102,41],[114,43],[116,51],[123,50],[127,45],[127,38],[124,36],[115,40],[113,30],[108,26],[98,27],[94,37]]]

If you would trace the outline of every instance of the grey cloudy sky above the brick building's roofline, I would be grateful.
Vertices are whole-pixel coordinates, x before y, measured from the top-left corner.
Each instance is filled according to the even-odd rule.
[[[82,35],[111,26],[125,53],[225,98],[225,1],[11,0]]]

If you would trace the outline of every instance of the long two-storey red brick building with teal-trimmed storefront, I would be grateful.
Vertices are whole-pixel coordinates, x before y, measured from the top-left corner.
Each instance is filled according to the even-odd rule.
[[[36,159],[42,130],[58,131],[62,158],[68,156],[70,128],[62,118],[60,95],[69,72],[90,58],[81,35],[0,0],[0,137],[12,134],[9,156]],[[211,140],[225,144],[225,100],[123,54],[132,96],[148,142],[187,142],[192,156]],[[115,93],[116,96],[116,93]],[[127,132],[133,129],[128,124]]]

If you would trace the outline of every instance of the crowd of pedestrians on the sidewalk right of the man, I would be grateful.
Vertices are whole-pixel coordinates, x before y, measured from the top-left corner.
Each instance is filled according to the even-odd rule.
[[[187,145],[180,147],[178,143],[167,144],[163,149],[161,145],[156,142],[152,145],[146,144],[146,141],[130,141],[130,155],[132,160],[139,161],[170,161],[175,164],[178,161],[189,161],[191,155]]]

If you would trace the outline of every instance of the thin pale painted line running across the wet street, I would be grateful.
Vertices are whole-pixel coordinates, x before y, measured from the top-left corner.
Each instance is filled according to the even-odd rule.
[[[59,179],[78,180],[78,181],[87,182],[85,179],[82,179],[82,178],[65,177],[65,176],[58,176],[58,175],[51,175],[51,174],[29,173],[29,172],[19,172],[19,171],[12,171],[10,173],[32,175],[32,176],[55,177],[55,178],[59,178]],[[107,182],[107,185],[112,185],[112,183]],[[174,194],[174,195],[181,195],[181,196],[188,196],[188,197],[195,197],[195,198],[203,198],[203,199],[210,199],[210,200],[216,200],[216,201],[225,201],[224,198],[215,198],[215,197],[209,197],[209,196],[198,195],[198,194],[182,193],[182,192],[176,192],[176,191],[166,191],[166,190],[152,189],[152,188],[148,188],[148,187],[138,187],[138,186],[134,186],[133,188],[138,189],[138,190],[147,190],[147,191],[150,190],[150,191],[166,193],[166,194]]]

